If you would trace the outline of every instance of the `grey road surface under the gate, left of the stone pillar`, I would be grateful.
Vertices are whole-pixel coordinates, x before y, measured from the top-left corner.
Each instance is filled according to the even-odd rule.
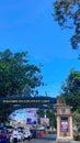
[[[32,139],[31,141],[24,141],[24,143],[55,143],[56,135],[47,134],[44,138]]]

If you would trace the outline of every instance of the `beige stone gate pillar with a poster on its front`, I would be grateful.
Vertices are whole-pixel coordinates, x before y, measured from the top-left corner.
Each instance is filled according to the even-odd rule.
[[[66,103],[57,103],[57,141],[73,140],[72,114]]]

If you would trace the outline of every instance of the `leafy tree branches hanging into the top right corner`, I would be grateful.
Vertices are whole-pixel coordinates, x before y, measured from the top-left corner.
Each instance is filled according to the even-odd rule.
[[[65,29],[73,29],[75,34],[70,38],[73,50],[80,44],[80,0],[55,0],[54,20]]]

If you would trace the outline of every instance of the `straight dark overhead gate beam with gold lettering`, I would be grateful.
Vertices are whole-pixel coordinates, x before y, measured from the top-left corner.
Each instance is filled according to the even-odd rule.
[[[52,97],[9,97],[1,98],[0,105],[23,105],[24,107],[42,107],[48,108],[57,103],[56,98]]]

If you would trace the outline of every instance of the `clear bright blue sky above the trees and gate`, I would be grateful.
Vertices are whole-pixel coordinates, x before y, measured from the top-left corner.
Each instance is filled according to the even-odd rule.
[[[78,51],[70,46],[72,30],[61,30],[54,21],[54,0],[2,0],[0,1],[0,51],[28,51],[33,64],[42,63],[47,92],[56,97],[71,68],[80,69]]]

